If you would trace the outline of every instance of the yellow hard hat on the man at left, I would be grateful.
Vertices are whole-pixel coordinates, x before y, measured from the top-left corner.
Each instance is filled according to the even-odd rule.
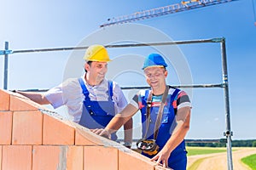
[[[84,60],[87,61],[100,61],[100,62],[108,62],[111,61],[108,56],[107,49],[102,45],[91,45],[86,49],[84,54]]]

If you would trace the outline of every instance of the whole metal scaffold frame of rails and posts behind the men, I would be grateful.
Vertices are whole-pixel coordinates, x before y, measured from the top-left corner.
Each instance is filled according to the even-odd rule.
[[[233,169],[232,162],[232,148],[231,148],[231,136],[233,135],[230,126],[230,96],[229,96],[229,81],[228,81],[228,69],[227,69],[227,55],[225,38],[212,38],[202,40],[190,40],[190,41],[176,41],[176,42],[152,42],[152,43],[132,43],[132,44],[118,44],[118,45],[106,45],[106,48],[129,48],[129,47],[143,47],[143,46],[164,46],[164,45],[182,45],[192,43],[220,43],[221,46],[221,57],[222,57],[222,77],[223,82],[217,84],[190,84],[190,85],[179,85],[174,86],[177,88],[224,88],[224,105],[225,105],[225,125],[226,131],[224,136],[226,137],[226,148],[227,148],[227,160],[228,169]],[[0,50],[0,55],[4,55],[4,77],[3,77],[3,88],[8,89],[8,59],[9,54],[22,54],[22,53],[39,53],[39,52],[50,52],[50,51],[66,51],[66,50],[80,50],[88,47],[72,47],[72,48],[41,48],[41,49],[24,49],[24,50],[9,50],[9,42],[5,42],[4,50]],[[122,89],[141,89],[148,87],[123,87]],[[35,90],[34,90],[35,91]],[[36,90],[40,91],[40,90]],[[44,91],[44,90],[43,90]]]

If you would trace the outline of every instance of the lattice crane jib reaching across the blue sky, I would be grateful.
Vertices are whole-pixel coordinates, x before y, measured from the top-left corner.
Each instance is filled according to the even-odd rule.
[[[236,0],[189,0],[182,1],[181,3],[175,3],[171,5],[167,5],[165,7],[160,8],[152,8],[148,10],[143,10],[142,12],[136,12],[134,14],[128,14],[119,16],[117,18],[108,19],[108,22],[102,24],[100,27],[112,26],[117,24],[124,24],[137,20],[146,20],[154,17],[158,17],[166,14],[173,14],[177,12],[182,12],[189,9],[194,8],[202,8],[211,5],[216,5],[219,3],[230,3]]]

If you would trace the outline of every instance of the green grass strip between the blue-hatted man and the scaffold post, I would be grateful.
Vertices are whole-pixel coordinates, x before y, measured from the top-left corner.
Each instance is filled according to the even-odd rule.
[[[188,156],[204,155],[225,152],[226,148],[210,148],[210,147],[186,147]]]

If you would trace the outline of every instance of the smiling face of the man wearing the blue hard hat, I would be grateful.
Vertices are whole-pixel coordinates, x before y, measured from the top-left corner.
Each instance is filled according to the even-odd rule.
[[[167,71],[164,67],[152,66],[144,70],[146,81],[154,95],[163,94],[166,88]]]

